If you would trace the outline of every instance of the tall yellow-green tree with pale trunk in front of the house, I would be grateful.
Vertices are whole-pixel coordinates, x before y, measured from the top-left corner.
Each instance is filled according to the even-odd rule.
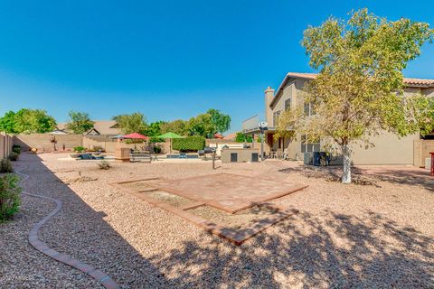
[[[401,18],[388,21],[363,9],[348,21],[329,18],[309,27],[302,45],[310,65],[320,70],[305,85],[304,104],[316,114],[307,116],[298,103],[279,117],[278,135],[318,138],[344,156],[342,182],[351,182],[351,146],[369,147],[370,137],[383,130],[397,135],[427,133],[433,125],[433,103],[420,94],[403,93],[402,70],[432,42],[428,23]]]

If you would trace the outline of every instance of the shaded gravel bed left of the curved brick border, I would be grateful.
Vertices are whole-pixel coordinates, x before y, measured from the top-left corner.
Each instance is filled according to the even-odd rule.
[[[33,173],[25,162],[20,166]],[[35,182],[23,182],[22,186],[25,191],[45,193]],[[88,275],[59,264],[28,243],[33,225],[54,208],[53,202],[23,195],[20,212],[0,224],[0,288],[103,288]]]

